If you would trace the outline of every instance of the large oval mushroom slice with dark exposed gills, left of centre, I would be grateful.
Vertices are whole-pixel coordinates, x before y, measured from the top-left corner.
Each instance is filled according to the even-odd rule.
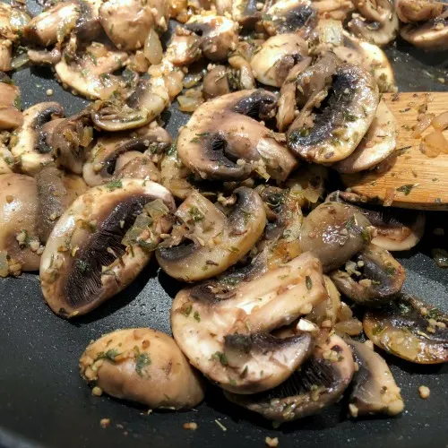
[[[40,263],[48,306],[62,317],[88,313],[125,289],[171,228],[173,197],[147,180],[90,188],[57,221]]]

